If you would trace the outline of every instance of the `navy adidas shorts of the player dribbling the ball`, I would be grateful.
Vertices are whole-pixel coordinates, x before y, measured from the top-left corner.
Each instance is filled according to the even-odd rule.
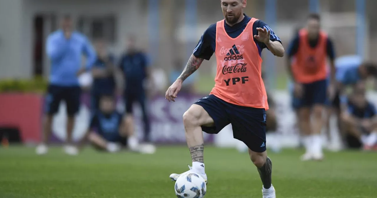
[[[215,122],[213,127],[202,126],[204,132],[218,134],[231,123],[234,138],[243,141],[254,152],[266,150],[265,109],[238,106],[215,95],[204,97],[195,104],[202,106]]]

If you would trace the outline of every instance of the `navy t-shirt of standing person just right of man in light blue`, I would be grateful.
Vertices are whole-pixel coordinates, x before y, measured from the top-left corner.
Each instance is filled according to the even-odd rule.
[[[114,58],[110,57],[109,61],[114,63]],[[100,69],[106,69],[106,63],[98,58],[93,68],[100,68]],[[93,80],[93,86],[92,86],[92,92],[95,94],[114,94],[115,91],[115,79],[114,75],[110,74],[107,77],[104,78],[94,78]]]

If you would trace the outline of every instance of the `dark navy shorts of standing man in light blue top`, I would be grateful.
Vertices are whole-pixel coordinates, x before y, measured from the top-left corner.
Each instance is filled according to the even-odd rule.
[[[80,109],[80,86],[57,86],[50,84],[46,96],[46,113],[54,115],[58,112],[60,102],[65,101],[68,116],[74,116]]]

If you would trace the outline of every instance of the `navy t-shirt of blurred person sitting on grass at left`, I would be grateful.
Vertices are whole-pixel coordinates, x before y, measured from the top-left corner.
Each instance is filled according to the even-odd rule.
[[[90,129],[97,129],[107,141],[118,141],[120,134],[119,129],[122,124],[123,115],[114,111],[110,115],[105,115],[99,111],[95,112],[90,120]]]

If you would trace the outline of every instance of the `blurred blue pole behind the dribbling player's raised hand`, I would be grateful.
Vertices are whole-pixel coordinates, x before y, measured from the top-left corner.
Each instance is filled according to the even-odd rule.
[[[276,0],[265,0],[265,21],[273,30],[276,28],[276,3]],[[267,68],[267,70],[265,70],[267,74],[267,87],[274,89],[276,85],[275,56],[268,53],[264,62]]]

